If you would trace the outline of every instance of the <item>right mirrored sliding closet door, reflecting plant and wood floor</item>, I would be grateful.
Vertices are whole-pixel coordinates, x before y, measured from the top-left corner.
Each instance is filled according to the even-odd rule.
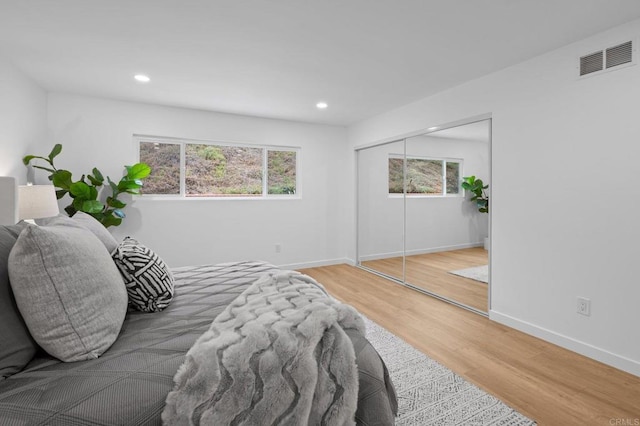
[[[406,139],[405,282],[480,312],[488,283],[455,272],[488,264],[489,218],[461,182],[490,183],[489,132],[485,120]]]

